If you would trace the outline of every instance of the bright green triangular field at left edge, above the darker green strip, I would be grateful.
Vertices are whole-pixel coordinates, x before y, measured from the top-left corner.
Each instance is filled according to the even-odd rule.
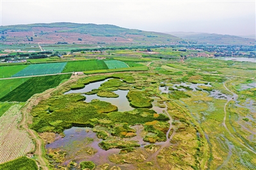
[[[0,98],[4,97],[5,95],[13,91],[13,89],[20,86],[20,84],[28,81],[28,79],[30,78],[28,77],[28,78],[22,78],[22,79],[0,80],[0,89],[1,89]]]

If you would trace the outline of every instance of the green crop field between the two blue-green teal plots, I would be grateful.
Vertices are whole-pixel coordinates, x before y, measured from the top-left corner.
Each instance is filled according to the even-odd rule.
[[[84,71],[102,70],[102,69],[108,69],[108,66],[102,60],[70,61],[65,66],[63,73],[84,72]]]

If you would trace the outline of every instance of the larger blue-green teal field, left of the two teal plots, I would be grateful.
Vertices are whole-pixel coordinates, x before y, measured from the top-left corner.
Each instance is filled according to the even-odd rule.
[[[15,73],[13,77],[23,77],[29,75],[45,75],[51,73],[61,73],[67,63],[48,63],[29,65],[18,73]]]

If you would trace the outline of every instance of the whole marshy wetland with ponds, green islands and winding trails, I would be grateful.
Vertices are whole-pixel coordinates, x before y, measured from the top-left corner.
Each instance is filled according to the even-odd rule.
[[[210,61],[219,72],[236,62]],[[253,82],[211,75],[204,58],[165,62],[182,75],[154,61],[150,71],[81,77],[33,107],[31,128],[54,134],[51,167],[254,169]]]

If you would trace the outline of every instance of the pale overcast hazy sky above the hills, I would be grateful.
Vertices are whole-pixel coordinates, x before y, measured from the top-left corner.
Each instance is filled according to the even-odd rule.
[[[144,31],[255,35],[255,1],[1,0],[1,25],[76,22]]]

